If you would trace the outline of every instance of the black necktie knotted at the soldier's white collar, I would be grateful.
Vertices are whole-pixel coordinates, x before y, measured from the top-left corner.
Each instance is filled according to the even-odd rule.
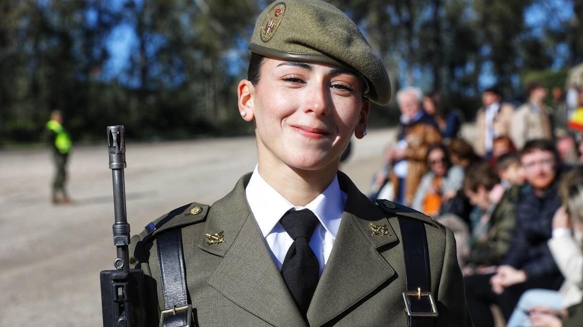
[[[280,223],[294,240],[283,260],[283,279],[305,317],[319,279],[318,258],[310,248],[310,238],[319,221],[314,212],[302,209],[287,212]]]

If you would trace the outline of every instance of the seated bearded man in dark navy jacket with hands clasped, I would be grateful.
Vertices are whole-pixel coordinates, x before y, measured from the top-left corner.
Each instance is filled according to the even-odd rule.
[[[528,141],[521,151],[528,185],[516,204],[512,243],[496,273],[465,277],[466,300],[475,326],[493,326],[491,304],[510,318],[518,298],[533,288],[559,289],[563,276],[550,253],[554,212],[560,207],[560,158],[550,140]]]

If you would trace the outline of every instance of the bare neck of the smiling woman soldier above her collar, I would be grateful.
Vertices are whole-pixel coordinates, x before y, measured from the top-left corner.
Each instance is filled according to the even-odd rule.
[[[259,156],[259,174],[287,201],[305,207],[326,190],[338,171],[338,162],[316,170],[298,169],[283,162],[275,165]]]

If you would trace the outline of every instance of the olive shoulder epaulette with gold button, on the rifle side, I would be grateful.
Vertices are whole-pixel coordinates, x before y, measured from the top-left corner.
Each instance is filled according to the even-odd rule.
[[[183,205],[147,224],[140,233],[140,237],[143,241],[146,241],[164,230],[202,222],[208,212],[209,205],[206,204],[192,202],[191,204]]]

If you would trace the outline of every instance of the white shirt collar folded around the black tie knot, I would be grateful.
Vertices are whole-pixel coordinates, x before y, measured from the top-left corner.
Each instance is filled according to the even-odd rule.
[[[259,175],[258,166],[255,166],[245,188],[245,194],[263,237],[271,233],[287,211],[308,208],[314,212],[322,226],[336,238],[346,204],[346,193],[340,190],[338,177],[335,176],[324,192],[305,207],[294,207]]]

